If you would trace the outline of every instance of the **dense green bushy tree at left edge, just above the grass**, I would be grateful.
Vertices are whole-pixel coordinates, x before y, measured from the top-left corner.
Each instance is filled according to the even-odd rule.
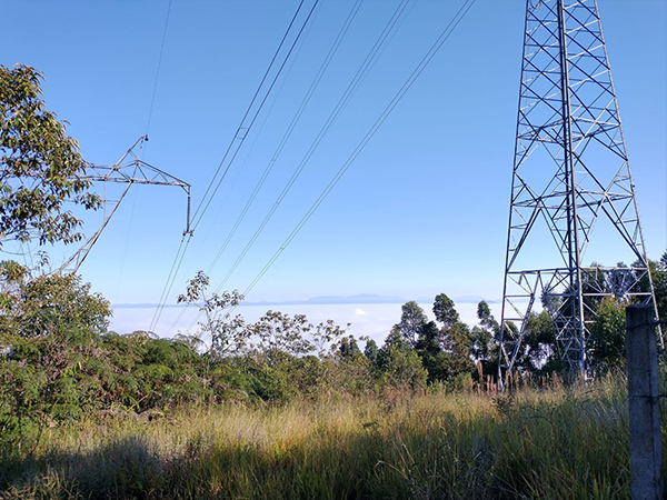
[[[39,441],[52,419],[81,416],[76,376],[111,314],[78,276],[39,271],[0,262],[0,448]]]

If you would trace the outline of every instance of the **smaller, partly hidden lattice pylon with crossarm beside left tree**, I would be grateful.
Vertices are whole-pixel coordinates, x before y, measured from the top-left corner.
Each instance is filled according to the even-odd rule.
[[[151,186],[178,186],[188,194],[188,217],[186,222],[185,234],[191,234],[190,230],[190,184],[177,179],[169,173],[152,167],[140,159],[143,142],[148,140],[147,136],[141,136],[126,151],[126,153],[115,164],[86,164],[86,172],[79,176],[80,179],[87,179],[93,182],[103,182],[104,192],[102,204],[104,209],[104,218],[100,228],[86,240],[86,242],[70,257],[58,270],[58,272],[77,272],[90,249],[97,242],[100,234],[109,223],[109,220],[120,206],[120,202],[129,191],[132,184],[151,184]],[[107,183],[122,183],[126,187],[116,200],[110,200],[107,197]]]

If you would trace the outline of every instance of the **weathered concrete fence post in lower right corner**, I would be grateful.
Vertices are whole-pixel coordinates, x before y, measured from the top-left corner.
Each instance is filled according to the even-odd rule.
[[[663,498],[658,354],[654,308],[626,308],[633,500]]]

